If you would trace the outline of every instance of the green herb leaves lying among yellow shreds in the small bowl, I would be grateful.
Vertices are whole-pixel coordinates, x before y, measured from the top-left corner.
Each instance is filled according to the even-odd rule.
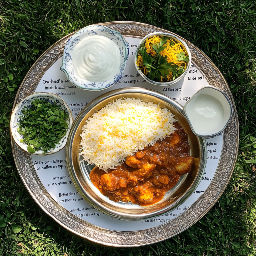
[[[151,54],[148,54],[146,51],[145,45],[142,45],[138,52],[142,56],[143,66],[147,69],[147,77],[153,81],[160,82],[162,77],[166,77],[172,72],[173,80],[177,78],[180,74],[184,73],[185,68],[183,66],[175,65],[173,62],[168,62],[166,56],[160,55],[160,52],[163,51],[166,46],[164,44],[169,39],[169,37],[162,37],[160,43],[152,45],[152,48],[156,52],[155,57],[152,57]],[[188,61],[188,56],[185,56],[184,52],[177,54],[178,61]]]

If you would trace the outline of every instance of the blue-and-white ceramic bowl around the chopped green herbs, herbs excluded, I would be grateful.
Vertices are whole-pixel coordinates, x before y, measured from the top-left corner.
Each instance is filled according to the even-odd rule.
[[[68,124],[67,133],[65,136],[62,137],[61,141],[59,141],[59,144],[56,144],[56,147],[51,148],[47,153],[44,153],[43,150],[38,150],[34,153],[36,155],[50,155],[50,154],[60,151],[66,145],[70,127],[73,123],[72,113],[71,113],[67,103],[62,98],[60,98],[56,94],[48,93],[48,92],[36,92],[36,93],[30,94],[26,98],[24,98],[19,104],[17,104],[12,112],[12,115],[11,115],[10,129],[11,129],[11,133],[12,133],[13,139],[16,142],[16,144],[27,152],[28,152],[28,145],[20,142],[20,140],[22,140],[24,137],[17,132],[17,128],[18,128],[17,124],[19,123],[20,117],[23,115],[21,112],[22,109],[24,107],[29,108],[31,105],[31,101],[33,101],[35,99],[47,100],[47,101],[51,102],[52,104],[54,104],[54,102],[55,102],[57,105],[60,105],[61,110],[66,111],[66,113],[69,115],[69,119],[67,120],[67,124]]]

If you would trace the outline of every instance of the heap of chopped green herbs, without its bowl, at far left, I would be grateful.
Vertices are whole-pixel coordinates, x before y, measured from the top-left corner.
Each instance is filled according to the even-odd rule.
[[[60,105],[51,104],[47,100],[35,99],[29,108],[22,109],[17,131],[24,136],[20,140],[28,145],[28,152],[35,153],[42,148],[46,153],[59,144],[68,130],[68,114],[60,109]]]

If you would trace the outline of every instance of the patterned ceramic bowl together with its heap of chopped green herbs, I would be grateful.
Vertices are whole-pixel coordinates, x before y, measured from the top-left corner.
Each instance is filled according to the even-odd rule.
[[[18,103],[11,115],[10,129],[14,141],[23,150],[49,155],[67,143],[72,113],[58,95],[36,92]]]

